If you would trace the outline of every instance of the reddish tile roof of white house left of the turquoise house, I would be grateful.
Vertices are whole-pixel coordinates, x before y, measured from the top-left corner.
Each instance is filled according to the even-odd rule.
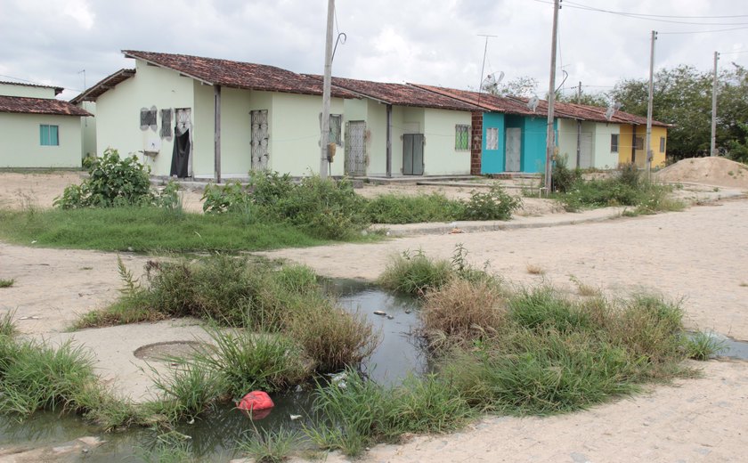
[[[311,76],[321,79],[321,76]],[[332,85],[345,88],[351,92],[373,98],[386,104],[398,106],[414,106],[420,108],[435,108],[439,110],[480,110],[476,105],[461,102],[441,94],[428,92],[414,85],[387,84],[371,82],[370,80],[357,80],[352,78],[333,77]]]

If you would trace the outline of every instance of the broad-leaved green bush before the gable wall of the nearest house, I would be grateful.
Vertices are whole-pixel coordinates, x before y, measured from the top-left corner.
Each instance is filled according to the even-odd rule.
[[[135,156],[120,158],[117,150],[104,151],[101,158],[85,158],[89,178],[80,185],[69,185],[54,205],[63,209],[76,207],[150,206],[157,201],[150,191],[150,168],[143,166]],[[175,187],[167,195],[175,198]]]

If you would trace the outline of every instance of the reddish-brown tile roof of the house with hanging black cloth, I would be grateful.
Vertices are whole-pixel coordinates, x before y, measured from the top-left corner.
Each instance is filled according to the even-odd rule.
[[[173,69],[209,85],[222,85],[267,92],[322,94],[317,79],[286,69],[251,62],[219,60],[186,54],[138,52],[123,50],[127,58],[136,58],[162,68]],[[333,90],[332,96],[354,98],[348,92]]]

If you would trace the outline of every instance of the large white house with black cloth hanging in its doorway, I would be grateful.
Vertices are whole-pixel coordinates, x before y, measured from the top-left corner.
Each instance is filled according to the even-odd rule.
[[[253,169],[319,171],[322,85],[316,79],[240,61],[123,53],[134,59],[134,69],[77,97],[96,103],[99,153],[110,147],[135,154],[152,175],[217,182],[246,178]],[[349,97],[333,92],[331,122],[342,121]],[[332,132],[338,148],[330,174],[342,175],[345,150],[340,130]]]

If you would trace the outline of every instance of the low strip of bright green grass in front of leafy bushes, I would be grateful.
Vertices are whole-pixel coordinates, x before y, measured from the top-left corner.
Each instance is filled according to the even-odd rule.
[[[243,251],[325,243],[286,223],[201,215],[159,207],[0,209],[0,239],[49,248],[102,251]]]

